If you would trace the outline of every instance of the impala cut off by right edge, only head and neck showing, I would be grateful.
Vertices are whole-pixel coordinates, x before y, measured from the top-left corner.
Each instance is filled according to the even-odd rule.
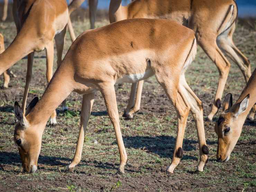
[[[218,135],[218,161],[227,162],[229,160],[230,154],[240,137],[245,119],[255,103],[256,69],[236,103],[232,106],[231,93],[226,95],[223,102],[223,113],[215,124],[215,132]]]

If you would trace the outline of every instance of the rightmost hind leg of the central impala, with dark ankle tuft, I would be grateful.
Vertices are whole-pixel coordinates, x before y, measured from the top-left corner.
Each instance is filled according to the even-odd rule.
[[[180,78],[180,84],[182,85],[182,93],[189,103],[190,111],[195,121],[198,143],[199,143],[199,155],[200,161],[197,170],[202,172],[204,165],[208,160],[209,149],[206,146],[205,134],[204,134],[204,124],[203,124],[203,105],[200,99],[191,90],[188,83],[185,80],[184,74]]]

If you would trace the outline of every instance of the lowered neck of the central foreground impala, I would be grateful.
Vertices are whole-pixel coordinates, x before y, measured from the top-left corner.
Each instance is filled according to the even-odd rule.
[[[73,68],[66,66],[65,63],[62,63],[56,70],[42,98],[38,101],[33,110],[27,115],[26,118],[30,124],[39,125],[39,129],[42,129],[43,131],[51,114],[73,91],[74,84]]]

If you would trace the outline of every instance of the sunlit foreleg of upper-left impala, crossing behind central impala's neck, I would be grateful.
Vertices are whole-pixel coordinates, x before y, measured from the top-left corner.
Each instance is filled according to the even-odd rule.
[[[53,41],[50,41],[45,48],[46,48],[46,79],[47,79],[47,82],[49,83],[53,76],[53,59],[54,59]],[[54,110],[50,119],[51,125],[57,124],[56,116],[57,116],[57,113],[56,113],[56,110]]]

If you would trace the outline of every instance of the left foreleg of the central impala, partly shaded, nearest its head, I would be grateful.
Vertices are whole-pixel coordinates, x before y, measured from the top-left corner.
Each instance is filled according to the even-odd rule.
[[[82,157],[82,150],[83,150],[83,143],[84,143],[84,133],[86,132],[86,127],[88,124],[89,117],[91,115],[91,110],[93,106],[95,93],[89,93],[83,95],[83,102],[82,102],[82,110],[81,110],[81,125],[80,125],[80,132],[78,136],[78,141],[75,149],[75,156],[72,162],[67,166],[67,171],[72,171],[73,168],[79,164]]]

